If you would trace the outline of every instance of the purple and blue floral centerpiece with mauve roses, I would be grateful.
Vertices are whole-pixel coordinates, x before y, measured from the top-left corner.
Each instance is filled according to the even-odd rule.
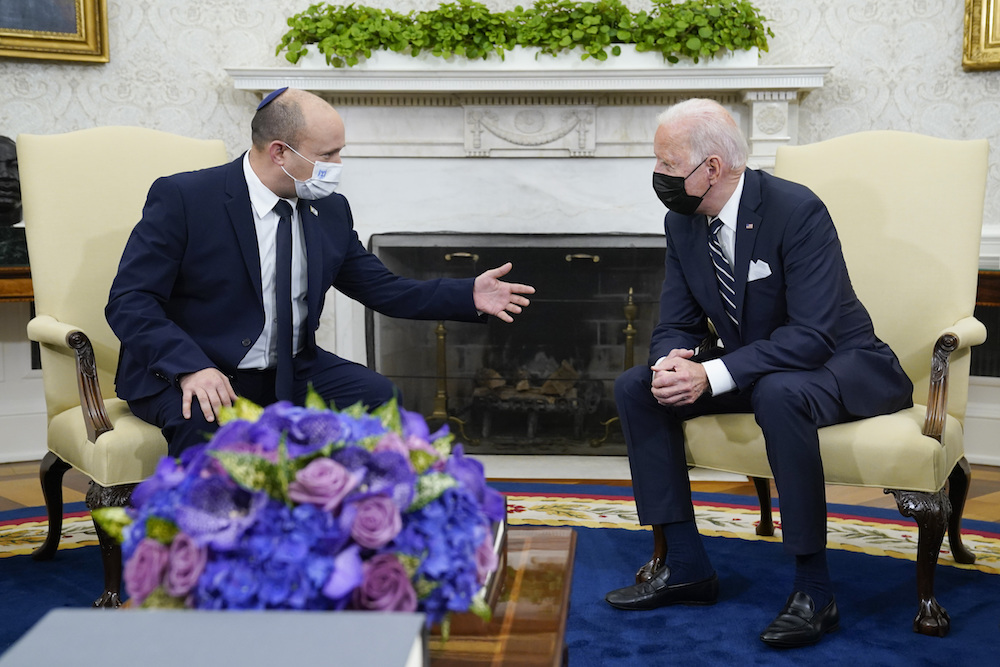
[[[395,401],[338,412],[239,399],[205,445],[100,510],[132,605],[422,611],[488,618],[505,499],[447,426]]]

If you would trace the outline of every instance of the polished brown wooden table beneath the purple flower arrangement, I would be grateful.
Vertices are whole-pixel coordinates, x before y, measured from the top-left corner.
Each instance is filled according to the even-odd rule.
[[[576,554],[572,528],[507,529],[507,572],[493,618],[462,615],[448,641],[431,636],[431,665],[568,664],[566,617]]]

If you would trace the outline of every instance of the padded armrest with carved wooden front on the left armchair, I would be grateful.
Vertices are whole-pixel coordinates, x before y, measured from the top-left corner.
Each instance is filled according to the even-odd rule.
[[[71,349],[76,355],[77,387],[80,391],[80,409],[87,426],[87,439],[96,442],[102,434],[112,430],[111,418],[104,407],[101,385],[97,379],[94,347],[87,334],[79,327],[60,322],[49,315],[39,315],[28,322],[28,338],[38,343]]]

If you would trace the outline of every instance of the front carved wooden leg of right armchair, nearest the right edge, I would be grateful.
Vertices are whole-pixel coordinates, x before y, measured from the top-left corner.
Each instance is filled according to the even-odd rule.
[[[917,596],[920,607],[913,619],[913,631],[922,635],[944,637],[951,629],[951,618],[934,598],[934,569],[951,515],[951,502],[943,490],[936,493],[887,489],[896,497],[903,516],[917,522]]]

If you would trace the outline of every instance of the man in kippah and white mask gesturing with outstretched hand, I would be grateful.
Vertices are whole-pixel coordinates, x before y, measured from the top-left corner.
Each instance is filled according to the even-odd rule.
[[[163,429],[171,455],[203,442],[238,395],[301,404],[311,384],[339,407],[393,397],[389,380],[316,345],[330,287],[385,315],[469,322],[511,322],[534,293],[499,280],[509,263],[417,281],[365,250],[335,193],[344,124],[316,95],[274,91],[251,130],[252,147],[232,163],[153,184],[111,287],[117,393]]]

